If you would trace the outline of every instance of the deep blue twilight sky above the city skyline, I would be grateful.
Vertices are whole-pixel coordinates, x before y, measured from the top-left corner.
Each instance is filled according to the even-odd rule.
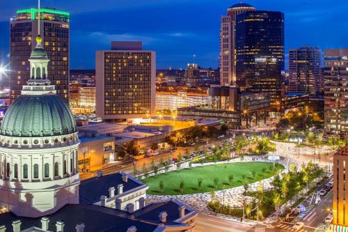
[[[67,10],[70,65],[94,68],[95,50],[111,40],[141,40],[157,52],[157,68],[184,68],[193,61],[216,68],[220,16],[234,0],[42,0],[42,6]],[[285,48],[309,44],[322,49],[348,47],[347,0],[248,0],[258,10],[285,13]],[[35,0],[0,0],[0,63],[8,57],[9,20]]]

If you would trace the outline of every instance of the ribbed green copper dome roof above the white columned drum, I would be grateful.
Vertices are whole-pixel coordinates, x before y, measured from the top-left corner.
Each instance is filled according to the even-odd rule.
[[[74,116],[58,95],[21,95],[8,108],[1,134],[46,137],[77,132]]]

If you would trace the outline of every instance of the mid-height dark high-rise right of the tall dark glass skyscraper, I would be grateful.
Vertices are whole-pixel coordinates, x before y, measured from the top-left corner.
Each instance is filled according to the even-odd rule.
[[[308,92],[316,95],[321,91],[322,52],[309,45],[289,51],[290,92]]]

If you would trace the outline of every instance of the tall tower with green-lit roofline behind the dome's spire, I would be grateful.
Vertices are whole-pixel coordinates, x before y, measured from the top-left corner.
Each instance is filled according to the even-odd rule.
[[[48,77],[57,94],[68,103],[70,13],[40,8],[40,35],[49,58]],[[10,98],[16,100],[30,77],[29,57],[38,36],[38,9],[17,10],[10,22]]]

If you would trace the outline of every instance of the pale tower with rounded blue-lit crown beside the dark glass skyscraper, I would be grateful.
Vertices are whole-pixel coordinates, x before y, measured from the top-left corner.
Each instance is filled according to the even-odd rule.
[[[220,84],[221,86],[236,85],[235,68],[235,26],[236,17],[246,11],[256,10],[247,3],[237,3],[221,16],[220,29]]]

